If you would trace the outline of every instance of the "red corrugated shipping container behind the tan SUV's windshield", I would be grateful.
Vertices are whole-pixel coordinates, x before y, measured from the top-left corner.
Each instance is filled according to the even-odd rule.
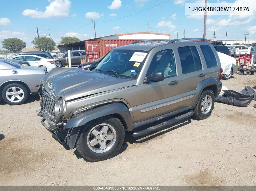
[[[85,41],[86,62],[92,62],[107,54],[110,50],[118,46],[133,43],[136,40],[121,39],[97,39]]]

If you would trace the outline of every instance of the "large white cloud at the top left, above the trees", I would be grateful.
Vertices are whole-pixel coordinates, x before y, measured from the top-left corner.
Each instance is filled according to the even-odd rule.
[[[38,9],[25,9],[22,12],[24,16],[32,18],[51,18],[51,17],[68,17],[71,8],[70,0],[53,0],[45,11],[38,11]]]

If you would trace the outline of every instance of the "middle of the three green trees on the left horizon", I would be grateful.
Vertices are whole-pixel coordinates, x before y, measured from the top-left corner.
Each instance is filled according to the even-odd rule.
[[[31,41],[31,43],[35,45],[35,48],[42,51],[54,50],[56,46],[56,43],[52,40],[52,38],[47,37],[36,37]]]

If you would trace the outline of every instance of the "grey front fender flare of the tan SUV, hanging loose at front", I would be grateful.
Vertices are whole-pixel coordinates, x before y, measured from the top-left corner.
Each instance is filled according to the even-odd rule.
[[[80,134],[80,130],[83,125],[85,125],[91,120],[98,119],[100,117],[104,117],[111,114],[117,114],[118,116],[121,116],[122,119],[120,120],[122,121],[122,123],[125,123],[124,126],[126,126],[126,129],[128,131],[133,130],[133,121],[129,109],[122,103],[110,103],[80,113],[68,120],[64,127],[64,129],[71,129],[70,134],[68,134],[66,137],[68,146],[71,149],[75,147],[76,140],[78,138],[78,135]]]

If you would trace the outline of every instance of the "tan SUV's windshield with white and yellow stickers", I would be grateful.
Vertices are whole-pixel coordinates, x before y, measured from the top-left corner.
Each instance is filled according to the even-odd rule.
[[[147,51],[115,50],[109,52],[93,71],[118,78],[136,79],[145,62]]]

